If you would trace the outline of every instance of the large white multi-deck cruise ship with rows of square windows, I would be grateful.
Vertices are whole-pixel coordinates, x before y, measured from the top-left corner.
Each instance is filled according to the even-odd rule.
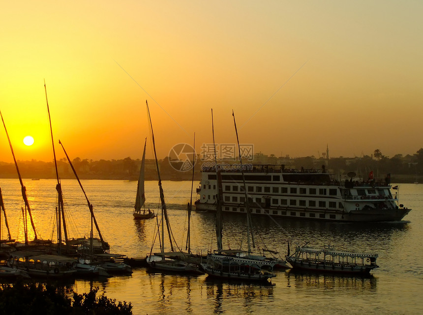
[[[197,188],[197,211],[245,213],[242,165],[203,168]],[[283,165],[244,165],[249,209],[255,215],[333,222],[399,221],[410,212],[398,202],[397,190],[385,181],[336,181],[323,168],[291,170]],[[396,191],[395,193],[393,193]]]

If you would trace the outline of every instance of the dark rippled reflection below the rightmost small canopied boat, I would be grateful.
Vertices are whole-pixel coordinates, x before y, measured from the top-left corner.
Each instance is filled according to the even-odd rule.
[[[294,270],[286,272],[285,275],[288,287],[295,287],[297,289],[341,289],[348,292],[350,292],[350,290],[354,290],[354,294],[376,292],[377,278],[373,275],[361,277],[350,275],[315,274]]]

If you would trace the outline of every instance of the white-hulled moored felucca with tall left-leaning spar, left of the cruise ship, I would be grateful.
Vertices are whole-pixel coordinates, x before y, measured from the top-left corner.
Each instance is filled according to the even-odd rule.
[[[160,241],[160,252],[153,253],[153,246],[154,242],[151,246],[150,254],[146,258],[147,264],[154,270],[160,270],[160,271],[170,271],[170,272],[177,272],[177,273],[199,273],[203,274],[203,272],[199,269],[199,267],[196,264],[181,260],[179,257],[181,256],[181,251],[176,252],[174,250],[173,242],[172,242],[172,230],[169,223],[169,218],[167,216],[167,209],[166,209],[166,203],[164,201],[164,192],[163,187],[161,184],[161,177],[160,172],[158,168],[158,162],[157,162],[157,154],[155,149],[155,142],[154,142],[154,133],[151,123],[151,116],[150,116],[150,110],[148,102],[146,101],[147,105],[147,113],[149,118],[149,123],[151,127],[151,139],[153,144],[153,150],[154,150],[154,159],[156,163],[156,169],[157,169],[157,176],[158,176],[158,186],[159,186],[159,192],[160,192],[160,203],[161,203],[161,220],[160,224],[157,221],[157,226],[159,227],[157,229],[157,232],[161,232],[161,237],[159,236]],[[165,246],[164,246],[164,224],[166,221],[166,228],[169,236],[169,244],[171,247],[170,252],[165,252]],[[155,238],[154,238],[155,239]]]

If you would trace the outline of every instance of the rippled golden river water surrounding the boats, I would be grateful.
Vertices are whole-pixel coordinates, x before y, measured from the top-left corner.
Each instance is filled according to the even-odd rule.
[[[155,220],[134,221],[132,209],[136,182],[84,180],[103,237],[111,252],[143,257],[150,251]],[[24,179],[38,233],[54,239],[57,193],[55,180]],[[23,240],[22,201],[17,179],[0,179],[12,237]],[[173,234],[184,249],[186,204],[191,183],[164,181],[163,188]],[[195,187],[194,187],[195,188]],[[65,210],[71,236],[90,231],[90,214],[76,180],[62,181]],[[344,250],[374,251],[380,268],[370,278],[323,276],[277,272],[273,285],[226,283],[206,276],[185,277],[152,274],[134,269],[132,276],[105,281],[75,280],[78,293],[98,286],[109,298],[130,301],[134,314],[423,314],[423,184],[401,184],[400,202],[413,210],[395,223],[324,223],[253,217],[256,241],[285,253],[287,239],[303,244],[332,244]],[[195,196],[195,193],[194,193]],[[157,182],[146,182],[147,206],[158,211]],[[194,197],[195,199],[195,197]],[[244,218],[224,216],[224,244],[239,247]],[[207,251],[214,241],[211,213],[192,214],[192,247]],[[1,237],[5,237],[2,226]],[[32,239],[32,238],[31,238]],[[213,247],[214,248],[214,247]]]

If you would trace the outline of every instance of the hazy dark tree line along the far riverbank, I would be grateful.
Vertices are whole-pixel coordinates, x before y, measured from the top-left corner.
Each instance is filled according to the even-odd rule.
[[[273,157],[274,155],[269,157],[270,164],[272,164]],[[169,157],[159,160],[158,164],[162,179],[191,180],[192,169],[183,171],[183,163],[182,161],[169,160]],[[237,162],[234,161],[233,163]],[[396,154],[392,158],[383,155],[379,149],[376,149],[372,155],[363,155],[355,158],[341,156],[331,159],[316,159],[314,156],[307,156],[292,159],[289,163],[291,164],[290,167],[296,169],[316,169],[325,165],[329,172],[339,176],[355,172],[358,176],[365,178],[372,171],[380,178],[391,174],[393,182],[415,182],[418,181],[417,179],[423,179],[423,148],[413,155],[403,156],[402,154]],[[121,160],[93,161],[77,157],[72,160],[72,164],[81,179],[137,180],[141,160],[133,160],[130,157],[126,157]],[[198,159],[195,164],[195,180],[200,180],[201,178],[202,164],[203,161],[201,159]],[[18,161],[18,166],[23,178],[55,178],[56,176],[53,161]],[[62,179],[75,178],[65,158],[58,161],[58,170]],[[14,163],[0,162],[0,177],[17,178]],[[145,179],[157,179],[154,160],[146,160]],[[423,180],[420,181],[423,182]]]

